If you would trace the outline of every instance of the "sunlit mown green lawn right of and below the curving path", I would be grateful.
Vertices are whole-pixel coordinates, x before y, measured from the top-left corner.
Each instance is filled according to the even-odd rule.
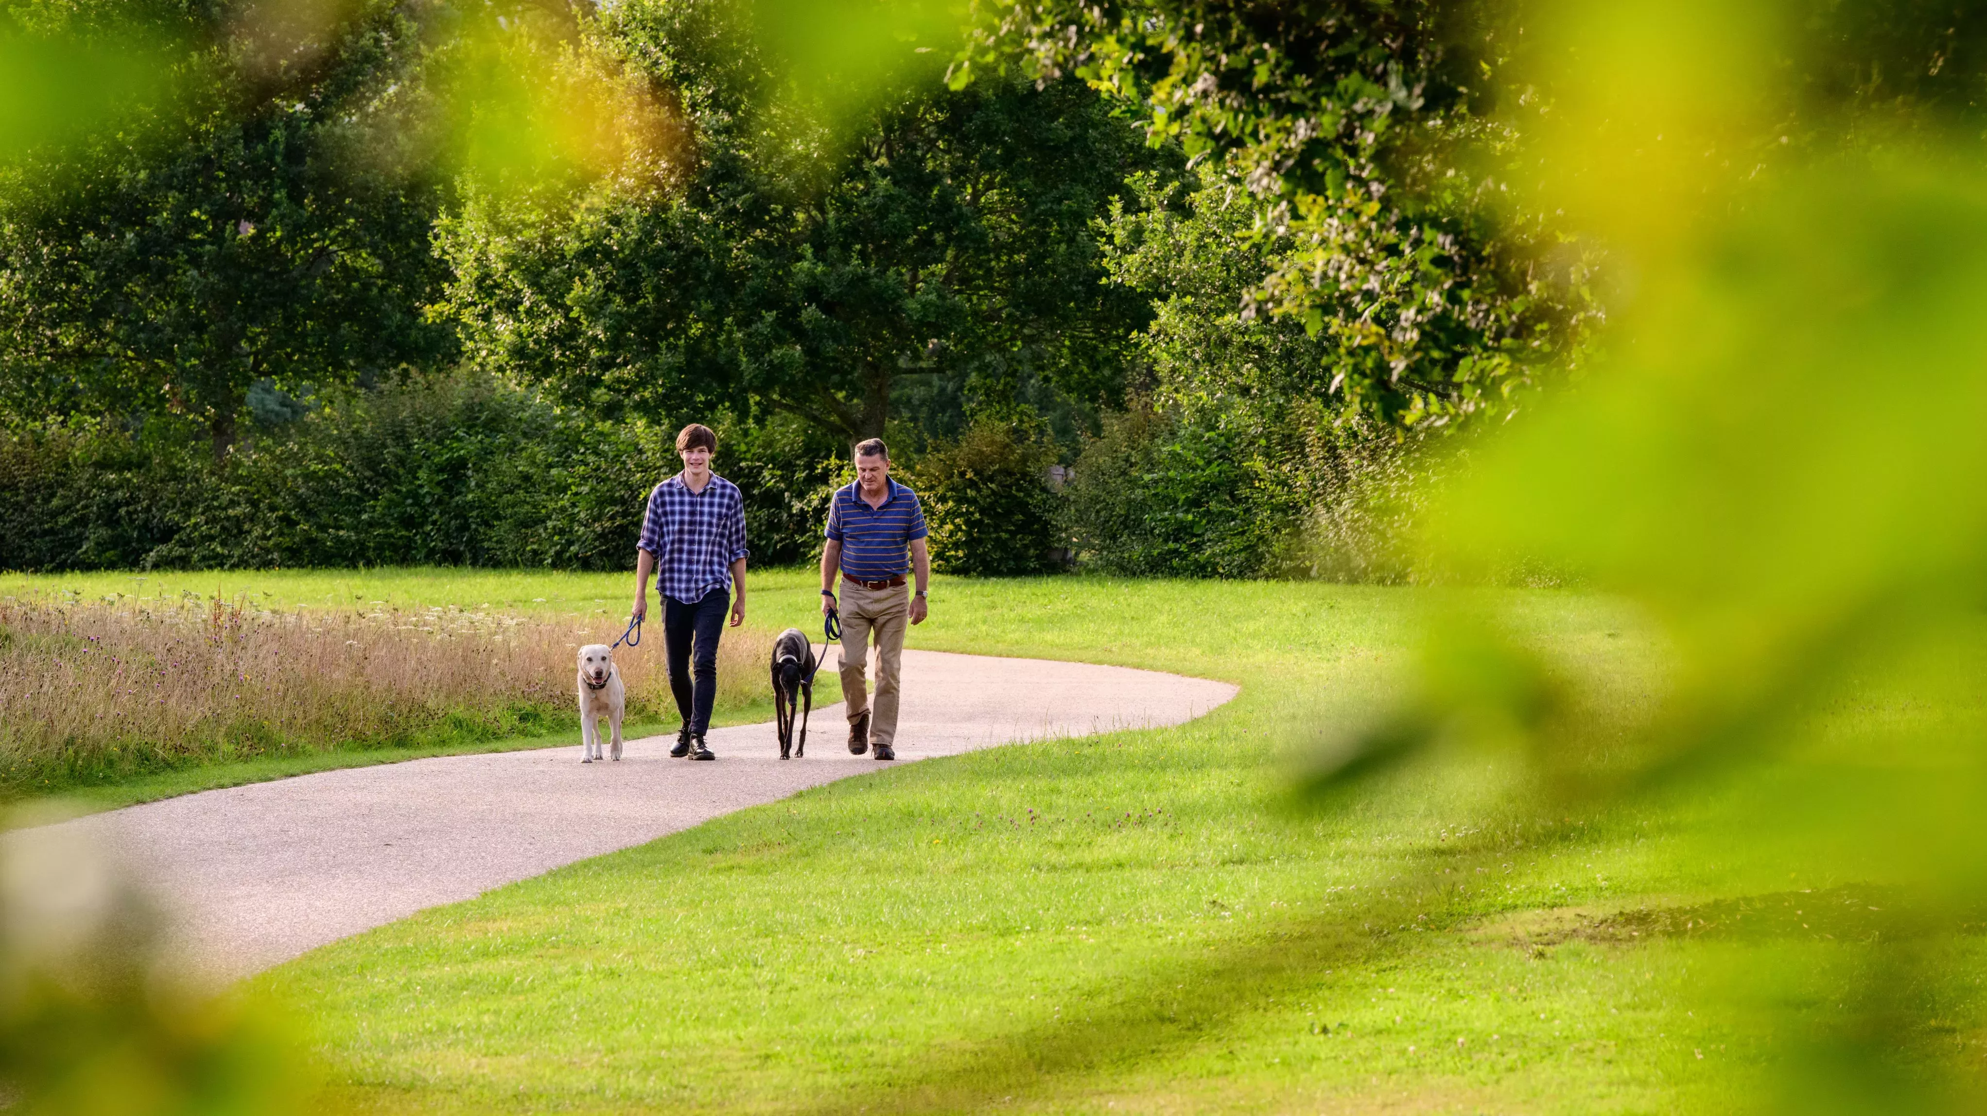
[[[1512,602],[1639,699],[1649,651],[1623,610]],[[1385,693],[1423,604],[942,580],[912,645],[1242,693],[1178,729],[809,790],[258,987],[310,1021],[338,1106],[378,1112],[1669,1112],[1729,1094],[1751,1039],[1683,995],[1721,947],[1566,929],[1568,909],[1707,886],[1663,816],[1512,812],[1492,804],[1506,772],[1452,763],[1294,806],[1292,753]]]

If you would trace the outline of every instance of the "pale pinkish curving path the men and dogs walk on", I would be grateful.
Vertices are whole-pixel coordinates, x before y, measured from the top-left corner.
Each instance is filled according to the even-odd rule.
[[[874,675],[872,675],[874,677]],[[817,693],[835,693],[823,667]],[[898,763],[992,745],[1178,725],[1236,695],[1220,681],[904,651]],[[807,757],[771,725],[709,733],[717,763],[630,741],[618,765],[562,749],[421,759],[205,790],[34,830],[87,840],[171,898],[203,967],[246,975],[491,888],[876,770],[846,747],[842,705],[815,709]]]

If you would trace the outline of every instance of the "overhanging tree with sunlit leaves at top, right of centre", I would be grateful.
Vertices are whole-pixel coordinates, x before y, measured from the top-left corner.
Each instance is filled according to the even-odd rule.
[[[980,0],[956,85],[1077,75],[1246,199],[1242,320],[1321,340],[1347,411],[1504,411],[1594,320],[1588,260],[1508,220],[1490,73],[1516,18],[1478,0]],[[1224,201],[1226,205],[1226,201]]]

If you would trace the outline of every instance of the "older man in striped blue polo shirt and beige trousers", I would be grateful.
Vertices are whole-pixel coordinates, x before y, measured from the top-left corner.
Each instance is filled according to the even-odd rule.
[[[856,445],[856,479],[829,504],[829,544],[821,550],[821,612],[842,614],[842,699],[848,703],[848,751],[876,745],[876,759],[896,759],[896,689],[904,657],[904,622],[924,624],[932,558],[924,546],[918,494],[890,479],[882,439]],[[918,592],[904,598],[904,574],[918,572]],[[835,600],[835,574],[842,600]],[[864,673],[876,639],[876,705]]]

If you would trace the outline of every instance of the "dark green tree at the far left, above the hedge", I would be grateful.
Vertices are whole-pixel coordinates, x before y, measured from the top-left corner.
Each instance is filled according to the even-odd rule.
[[[332,387],[447,353],[423,318],[439,183],[376,127],[421,28],[380,0],[276,50],[246,16],[181,10],[183,119],[4,171],[12,407],[187,415],[219,459],[260,379]]]

